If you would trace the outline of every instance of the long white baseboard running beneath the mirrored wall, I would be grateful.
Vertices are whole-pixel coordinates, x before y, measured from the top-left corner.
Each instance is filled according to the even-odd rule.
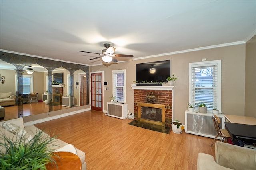
[[[61,114],[61,115],[47,117],[47,118],[44,118],[44,119],[38,119],[38,120],[35,120],[35,121],[25,122],[24,125],[25,126],[34,125],[34,124],[37,124],[37,123],[42,123],[42,122],[45,122],[45,121],[50,121],[50,120],[58,119],[58,118],[61,118],[61,117],[66,117],[66,116],[74,115],[74,114],[77,114],[77,113],[81,113],[81,112],[84,112],[84,111],[89,111],[89,110],[90,110],[90,108],[77,110],[77,111],[72,111],[70,113],[64,113],[64,114]]]

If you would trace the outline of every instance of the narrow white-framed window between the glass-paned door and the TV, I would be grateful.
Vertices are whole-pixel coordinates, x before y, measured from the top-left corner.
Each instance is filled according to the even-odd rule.
[[[113,70],[113,96],[118,102],[126,102],[126,70]]]

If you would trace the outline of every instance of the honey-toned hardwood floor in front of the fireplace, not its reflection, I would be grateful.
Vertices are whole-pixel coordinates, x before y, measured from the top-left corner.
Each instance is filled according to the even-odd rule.
[[[211,138],[160,133],[130,121],[86,111],[36,127],[84,151],[87,170],[196,170],[199,152],[214,156]]]

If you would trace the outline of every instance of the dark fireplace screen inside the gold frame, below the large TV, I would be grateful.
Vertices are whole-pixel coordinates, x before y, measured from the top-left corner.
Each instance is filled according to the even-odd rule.
[[[162,121],[162,109],[141,107],[141,118],[154,121]]]

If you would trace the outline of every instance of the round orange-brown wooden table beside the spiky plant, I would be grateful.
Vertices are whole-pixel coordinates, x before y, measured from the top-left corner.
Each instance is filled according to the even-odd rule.
[[[60,156],[52,156],[57,163],[58,168],[53,163],[46,164],[47,170],[81,170],[81,160],[80,158],[71,153],[71,152],[55,152],[56,155]]]

